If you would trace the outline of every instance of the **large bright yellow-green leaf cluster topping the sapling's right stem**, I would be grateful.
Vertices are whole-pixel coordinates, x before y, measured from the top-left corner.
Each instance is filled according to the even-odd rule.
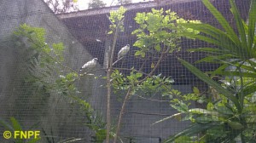
[[[134,19],[139,28],[132,32],[137,36],[136,43],[133,46],[139,48],[136,56],[145,58],[146,54],[170,53],[179,51],[179,33],[187,32],[197,34],[199,31],[191,28],[184,28],[176,23],[200,23],[199,20],[183,20],[170,9],[152,9],[150,13],[137,13]],[[156,66],[156,64],[154,63]]]

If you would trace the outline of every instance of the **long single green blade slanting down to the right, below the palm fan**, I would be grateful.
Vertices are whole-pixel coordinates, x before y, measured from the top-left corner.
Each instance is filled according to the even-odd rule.
[[[218,93],[224,94],[224,96],[229,98],[235,104],[238,111],[241,112],[241,106],[240,106],[239,101],[236,99],[236,97],[232,93],[230,93],[229,90],[224,89],[221,85],[219,85],[218,83],[213,81],[210,77],[207,77],[207,75],[205,75],[203,72],[198,70],[195,66],[192,66],[191,64],[189,64],[187,61],[179,59],[179,58],[178,58],[178,60],[183,64],[183,66],[188,68],[190,72],[195,74],[196,77],[200,78],[202,81],[204,81],[205,83],[212,86],[212,88],[217,89]]]

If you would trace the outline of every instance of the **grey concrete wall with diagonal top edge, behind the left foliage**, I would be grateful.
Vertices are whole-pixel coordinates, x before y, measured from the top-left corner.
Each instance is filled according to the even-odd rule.
[[[88,142],[90,138],[86,139],[86,136],[90,132],[81,122],[77,122],[83,117],[78,115],[77,109],[72,109],[70,100],[55,94],[47,95],[44,97],[46,100],[20,96],[24,90],[20,89],[20,77],[24,71],[18,68],[23,64],[20,59],[22,56],[9,38],[20,24],[44,27],[47,43],[64,43],[65,65],[79,70],[84,62],[93,57],[55,17],[43,0],[0,0],[0,13],[0,117],[7,121],[9,117],[15,117],[23,124],[24,129],[39,121],[38,129],[43,127],[48,134],[52,129],[55,141],[75,137],[85,138],[82,142]],[[101,66],[98,65],[97,68]],[[101,74],[104,73],[96,72],[96,75]],[[103,81],[94,77],[85,77],[79,81],[82,98],[91,100],[92,106],[100,103],[102,106],[97,106],[98,110],[102,110],[105,103],[104,97],[97,97],[99,93],[104,93],[104,88],[99,88],[102,83]],[[0,126],[0,134],[3,130]],[[0,142],[4,141],[7,140],[3,140],[1,136]]]

